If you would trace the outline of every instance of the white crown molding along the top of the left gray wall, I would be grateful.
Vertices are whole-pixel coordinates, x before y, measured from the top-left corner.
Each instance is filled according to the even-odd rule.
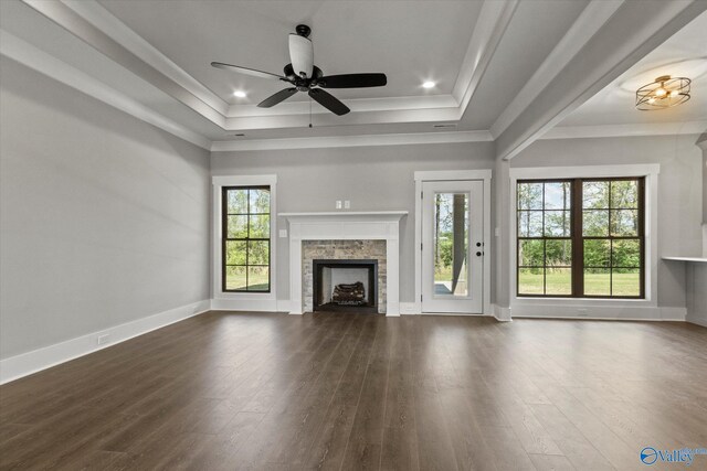
[[[211,148],[211,141],[200,133],[155,113],[133,98],[108,87],[103,82],[84,74],[1,29],[0,54],[194,146],[207,150]]]

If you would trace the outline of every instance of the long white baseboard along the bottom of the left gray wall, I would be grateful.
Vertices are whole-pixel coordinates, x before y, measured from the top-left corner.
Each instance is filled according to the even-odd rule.
[[[103,350],[116,343],[125,342],[134,336],[163,328],[193,315],[199,315],[211,309],[211,301],[203,300],[169,311],[159,312],[147,318],[137,319],[124,324],[115,325],[98,332],[77,336],[61,343],[44,346],[20,355],[0,361],[0,384],[19,379],[32,373],[46,370],[88,353]],[[108,335],[107,338],[105,335]],[[105,343],[98,344],[98,338]]]

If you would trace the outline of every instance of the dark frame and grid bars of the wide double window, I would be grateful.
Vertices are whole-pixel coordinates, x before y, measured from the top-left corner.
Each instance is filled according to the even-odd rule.
[[[611,182],[614,181],[635,181],[637,183],[637,207],[625,208],[625,207],[612,207],[612,191],[611,191]],[[558,183],[558,182],[569,182],[570,183],[570,235],[569,237],[548,237],[545,235],[545,212],[546,211],[555,211],[555,210],[546,210],[545,208],[545,191],[542,195],[542,208],[541,210],[528,210],[519,207],[519,185],[524,183]],[[587,182],[610,182],[609,188],[609,207],[606,208],[591,208],[585,210],[583,207],[583,183]],[[544,189],[545,190],[545,189]],[[583,298],[583,299],[631,299],[631,300],[644,300],[645,299],[645,176],[611,176],[611,178],[563,178],[563,179],[524,179],[518,180],[516,182],[516,202],[515,202],[515,211],[516,211],[516,297],[518,298]],[[537,211],[542,212],[542,236],[538,237],[529,237],[520,235],[520,212],[521,211]],[[583,212],[584,211],[606,211],[609,213],[608,227],[609,232],[606,236],[584,236],[583,234]],[[612,212],[614,211],[637,211],[637,234],[635,236],[615,236],[612,235]],[[544,244],[547,244],[546,240],[562,240],[569,239],[571,240],[572,250],[571,250],[571,293],[566,295],[547,295],[547,293],[524,293],[520,292],[520,269],[528,268],[526,266],[520,265],[520,244],[521,240],[544,240]],[[585,267],[584,266],[584,240],[592,239],[604,239],[609,240],[609,265],[603,267]],[[640,250],[640,267],[618,267],[614,266],[614,257],[613,257],[613,243],[614,240],[639,240],[639,250]],[[544,266],[542,267],[530,267],[530,268],[542,268],[544,270],[544,291],[547,291],[547,279],[546,272],[547,261],[545,260],[545,248],[544,248]],[[557,268],[557,267],[556,267]],[[584,270],[585,269],[606,269],[609,270],[609,295],[585,295],[584,293]],[[639,295],[637,296],[614,296],[613,291],[613,272],[614,269],[639,269]]]

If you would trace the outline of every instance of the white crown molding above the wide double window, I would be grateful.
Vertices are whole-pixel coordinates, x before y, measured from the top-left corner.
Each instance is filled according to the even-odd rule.
[[[642,136],[699,135],[707,121],[656,122],[642,125],[557,126],[539,139],[582,139]]]

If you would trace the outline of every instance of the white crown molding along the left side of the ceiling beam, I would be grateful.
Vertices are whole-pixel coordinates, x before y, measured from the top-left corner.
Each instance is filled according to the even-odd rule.
[[[562,36],[542,64],[526,82],[520,92],[503,110],[490,127],[494,138],[500,136],[520,113],[535,100],[547,84],[555,78],[562,68],[577,55],[584,44],[603,26],[616,12],[624,0],[593,0],[574,20],[574,23]]]

